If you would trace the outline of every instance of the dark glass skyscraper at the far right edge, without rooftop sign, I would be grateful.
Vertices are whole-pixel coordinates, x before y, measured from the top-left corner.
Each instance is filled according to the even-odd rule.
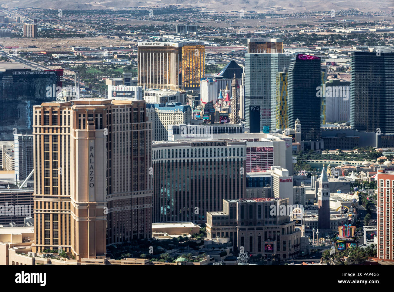
[[[394,52],[351,54],[350,125],[394,133]],[[391,120],[390,120],[391,119]]]

